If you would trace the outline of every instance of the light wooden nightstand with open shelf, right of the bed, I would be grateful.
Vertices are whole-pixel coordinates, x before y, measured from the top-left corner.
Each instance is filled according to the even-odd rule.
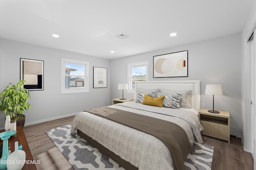
[[[210,109],[201,108],[199,110],[199,120],[204,127],[201,131],[202,135],[215,137],[228,141],[230,143],[230,115],[228,111],[220,111],[220,113],[210,113]]]

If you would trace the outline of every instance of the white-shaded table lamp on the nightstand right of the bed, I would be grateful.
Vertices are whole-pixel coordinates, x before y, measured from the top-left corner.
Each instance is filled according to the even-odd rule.
[[[213,96],[213,109],[208,110],[210,113],[220,113],[219,111],[214,110],[214,95],[222,95],[221,84],[206,84],[205,94]]]

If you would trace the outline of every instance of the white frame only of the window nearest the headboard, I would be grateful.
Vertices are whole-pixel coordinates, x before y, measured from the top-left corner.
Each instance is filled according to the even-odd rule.
[[[148,68],[148,61],[141,61],[141,62],[136,62],[136,63],[128,63],[128,91],[127,93],[133,93],[134,94],[134,89],[132,88],[132,67],[139,67],[139,66],[146,66],[146,81],[148,81],[148,75],[149,75],[149,68]]]

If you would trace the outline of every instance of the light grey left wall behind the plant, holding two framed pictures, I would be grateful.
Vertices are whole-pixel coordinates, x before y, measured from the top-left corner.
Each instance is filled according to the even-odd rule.
[[[90,92],[60,94],[62,57],[90,62]],[[25,126],[110,105],[109,60],[0,38],[1,92],[9,83],[20,79],[20,58],[44,61],[44,90],[30,91],[31,110],[25,112]],[[93,88],[93,66],[108,68],[108,88]],[[4,117],[1,112],[0,128],[4,127]]]

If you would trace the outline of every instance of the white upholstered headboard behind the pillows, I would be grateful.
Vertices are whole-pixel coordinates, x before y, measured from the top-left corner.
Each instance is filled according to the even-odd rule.
[[[192,90],[191,107],[200,109],[200,80],[185,81],[136,81],[134,86],[134,99],[137,96],[137,89],[164,89],[164,90]]]

